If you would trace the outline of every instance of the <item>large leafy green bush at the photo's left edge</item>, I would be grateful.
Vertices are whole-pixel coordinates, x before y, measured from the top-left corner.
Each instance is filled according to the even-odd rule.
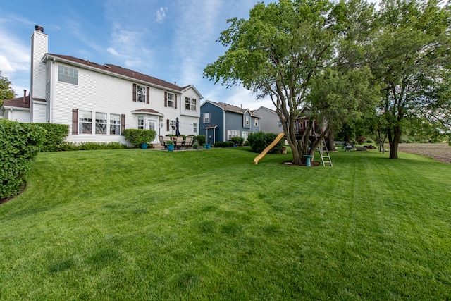
[[[44,129],[0,119],[0,199],[17,195],[42,147]]]

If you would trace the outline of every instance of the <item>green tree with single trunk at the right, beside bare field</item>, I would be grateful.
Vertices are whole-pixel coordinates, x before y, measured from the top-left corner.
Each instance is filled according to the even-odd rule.
[[[383,0],[373,41],[373,75],[381,80],[379,113],[388,125],[390,159],[412,118],[450,114],[450,6],[436,0]]]

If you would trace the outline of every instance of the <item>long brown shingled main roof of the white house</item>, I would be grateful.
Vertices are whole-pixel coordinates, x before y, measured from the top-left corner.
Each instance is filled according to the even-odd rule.
[[[97,70],[100,70],[104,73],[113,73],[116,75],[121,75],[126,78],[134,79],[140,82],[147,82],[150,85],[159,86],[159,87],[165,87],[169,90],[175,90],[178,92],[182,92],[183,90],[186,90],[188,87],[191,87],[192,85],[188,85],[185,87],[179,87],[178,85],[175,85],[175,83],[166,82],[165,80],[160,80],[159,78],[154,78],[149,75],[145,75],[130,69],[122,68],[116,65],[113,65],[111,63],[107,63],[104,65],[99,65],[98,63],[94,63],[92,61],[86,61],[84,59],[77,59],[73,56],[64,56],[61,54],[46,54],[44,56],[44,61],[47,61],[47,59],[56,59],[58,61],[63,61],[66,63],[73,63],[78,66],[89,66],[90,68],[94,68]],[[200,94],[199,94],[200,95]]]

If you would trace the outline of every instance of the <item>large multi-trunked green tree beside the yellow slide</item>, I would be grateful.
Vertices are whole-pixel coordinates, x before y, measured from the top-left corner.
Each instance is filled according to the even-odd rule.
[[[293,161],[299,164],[303,154],[313,152],[330,130],[355,118],[368,101],[371,74],[360,61],[360,48],[368,40],[362,35],[368,31],[358,25],[368,23],[372,12],[373,6],[359,0],[259,3],[249,19],[228,20],[230,27],[218,38],[228,50],[206,66],[204,75],[224,85],[243,85],[257,98],[271,97],[285,138],[297,150]],[[295,133],[305,106],[309,128],[315,120],[327,125],[318,140]]]

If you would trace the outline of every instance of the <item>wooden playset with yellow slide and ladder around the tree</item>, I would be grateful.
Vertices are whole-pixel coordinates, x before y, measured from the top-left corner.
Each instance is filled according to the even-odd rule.
[[[302,110],[302,113],[306,113],[308,109],[304,109]],[[296,131],[296,139],[302,139],[302,137],[304,136],[305,131],[308,128],[308,118],[307,116],[305,116],[305,114],[302,114],[302,116],[299,116],[296,121],[295,121],[295,131]],[[311,140],[312,142],[317,142],[320,137],[321,134],[323,133],[323,130],[325,130],[325,126],[319,126],[316,123],[316,120],[314,121],[314,125],[311,127],[310,133],[309,133],[309,140]],[[259,164],[260,159],[262,159],[266,154],[268,154],[268,152],[275,147],[278,142],[285,137],[284,133],[280,133],[276,139],[271,142],[270,145],[268,145],[263,152],[261,152],[258,156],[256,156],[254,158],[254,164]],[[324,140],[324,138],[321,139],[321,142],[319,143],[317,150],[319,152],[319,156],[321,158],[321,163],[323,164],[323,166],[326,166],[326,164],[330,167],[332,167],[332,160],[330,159],[330,154],[329,154],[329,150],[327,148],[326,145],[326,141]],[[313,155],[304,155],[307,159],[307,166],[311,166],[311,161],[314,161],[314,153]]]

